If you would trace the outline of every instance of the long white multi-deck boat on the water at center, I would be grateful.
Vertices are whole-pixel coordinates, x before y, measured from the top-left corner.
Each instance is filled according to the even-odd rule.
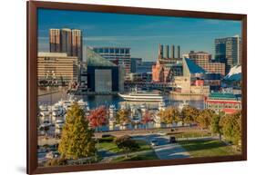
[[[135,91],[129,93],[118,93],[126,101],[133,102],[164,102],[165,97],[157,92]]]

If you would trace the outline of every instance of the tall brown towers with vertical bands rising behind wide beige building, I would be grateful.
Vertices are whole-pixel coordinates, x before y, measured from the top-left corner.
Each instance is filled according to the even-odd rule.
[[[78,29],[49,29],[50,53],[67,53],[83,60],[83,36]]]

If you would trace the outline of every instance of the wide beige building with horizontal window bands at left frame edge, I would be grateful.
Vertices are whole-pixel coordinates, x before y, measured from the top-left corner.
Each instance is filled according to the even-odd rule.
[[[67,53],[38,53],[37,80],[43,85],[64,85],[78,81],[78,58]]]

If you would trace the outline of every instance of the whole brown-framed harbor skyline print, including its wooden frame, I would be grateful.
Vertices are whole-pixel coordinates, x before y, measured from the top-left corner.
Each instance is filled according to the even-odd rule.
[[[247,15],[27,2],[27,173],[247,159]]]

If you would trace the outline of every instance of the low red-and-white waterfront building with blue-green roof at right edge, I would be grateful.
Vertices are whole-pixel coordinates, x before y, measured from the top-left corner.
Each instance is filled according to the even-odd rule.
[[[241,98],[233,93],[212,92],[204,99],[204,108],[215,112],[234,113],[241,110]]]

